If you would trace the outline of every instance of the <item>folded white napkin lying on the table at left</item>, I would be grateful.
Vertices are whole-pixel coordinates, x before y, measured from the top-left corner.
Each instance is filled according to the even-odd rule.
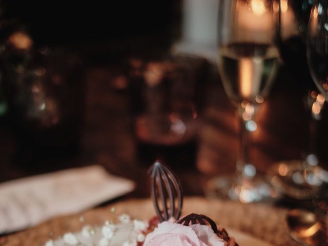
[[[0,234],[88,209],[134,187],[133,181],[110,175],[100,166],[0,183]]]

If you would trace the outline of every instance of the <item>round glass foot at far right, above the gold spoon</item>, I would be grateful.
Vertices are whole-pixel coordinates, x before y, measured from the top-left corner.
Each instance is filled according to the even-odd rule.
[[[283,195],[311,199],[328,186],[328,172],[306,160],[285,160],[272,165],[268,175],[272,185]],[[307,167],[304,170],[304,167]]]

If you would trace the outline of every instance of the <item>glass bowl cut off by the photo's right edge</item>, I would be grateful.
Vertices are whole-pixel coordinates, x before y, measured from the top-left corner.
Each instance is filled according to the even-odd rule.
[[[312,78],[328,100],[328,1],[312,7],[307,32],[307,57]]]

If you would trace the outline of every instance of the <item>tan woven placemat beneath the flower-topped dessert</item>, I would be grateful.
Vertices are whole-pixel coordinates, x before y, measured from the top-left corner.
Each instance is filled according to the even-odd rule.
[[[115,213],[111,212],[113,207]],[[224,228],[247,233],[273,245],[297,246],[298,244],[291,239],[284,226],[287,211],[287,209],[259,203],[242,204],[234,201],[187,197],[184,200],[182,214],[204,214]],[[56,239],[66,232],[77,232],[86,224],[103,224],[106,220],[122,213],[138,219],[150,219],[155,215],[150,199],[125,200],[83,213],[52,219],[24,232],[2,237],[0,244],[3,246],[43,245],[49,239]],[[80,220],[81,216],[84,218],[83,222]]]

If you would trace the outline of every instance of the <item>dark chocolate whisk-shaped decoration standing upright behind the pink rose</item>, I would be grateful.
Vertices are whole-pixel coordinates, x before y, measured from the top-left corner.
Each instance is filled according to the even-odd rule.
[[[178,220],[182,210],[182,189],[179,180],[169,168],[158,160],[150,169],[151,196],[160,222]]]

